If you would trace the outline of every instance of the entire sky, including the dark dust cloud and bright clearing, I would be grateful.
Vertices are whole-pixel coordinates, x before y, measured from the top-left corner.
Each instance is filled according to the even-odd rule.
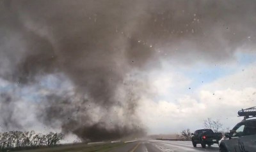
[[[136,4],[136,5],[134,5]],[[232,128],[256,106],[254,1],[1,1],[0,130],[100,141]]]

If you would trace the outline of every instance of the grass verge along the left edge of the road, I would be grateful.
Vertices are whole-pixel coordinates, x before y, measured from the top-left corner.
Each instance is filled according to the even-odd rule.
[[[123,146],[124,143],[107,143],[107,144],[70,144],[70,145],[63,145],[53,148],[40,148],[40,149],[31,149],[31,150],[23,150],[24,152],[92,152],[92,151],[99,151],[105,152],[109,151],[113,148],[117,148],[119,146]]]

